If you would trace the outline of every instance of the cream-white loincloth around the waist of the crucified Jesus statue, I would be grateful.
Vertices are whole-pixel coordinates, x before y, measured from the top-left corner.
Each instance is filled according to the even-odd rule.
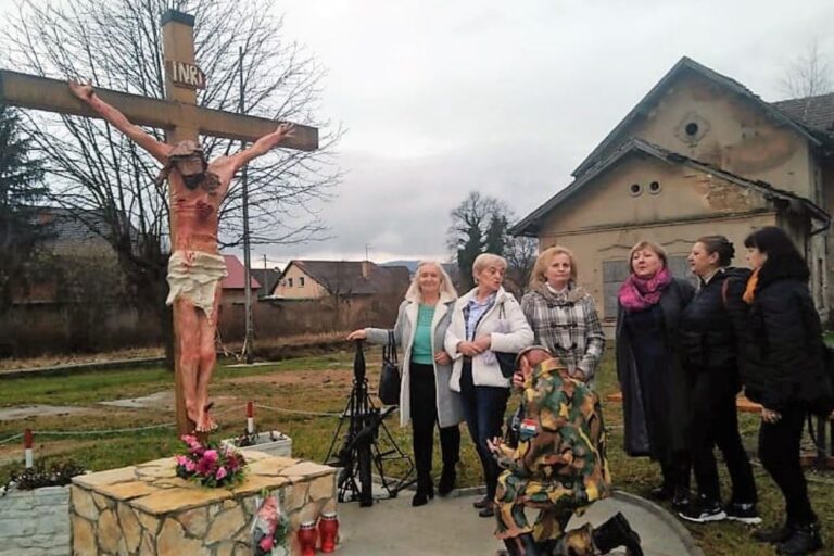
[[[185,298],[194,307],[203,309],[214,323],[214,296],[220,280],[226,278],[226,261],[220,255],[202,251],[175,251],[168,260],[168,299],[173,305],[177,298]]]

